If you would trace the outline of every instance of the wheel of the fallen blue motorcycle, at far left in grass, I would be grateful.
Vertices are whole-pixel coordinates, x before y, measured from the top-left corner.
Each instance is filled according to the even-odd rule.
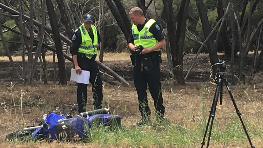
[[[15,132],[12,132],[12,133],[6,135],[5,140],[6,141],[13,141],[13,140],[17,139],[19,141],[22,141],[22,140],[25,140],[25,139],[32,137],[33,132],[34,132],[34,129],[29,130],[29,131],[22,131],[20,129],[20,130],[17,130]]]

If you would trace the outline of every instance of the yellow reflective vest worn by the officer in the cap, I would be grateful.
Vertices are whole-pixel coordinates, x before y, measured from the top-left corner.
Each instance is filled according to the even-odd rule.
[[[90,38],[87,29],[84,26],[84,23],[79,27],[81,32],[82,42],[78,48],[78,52],[84,53],[89,59],[93,55],[98,53],[97,44],[98,44],[98,34],[97,29],[94,25],[91,25],[91,29],[94,35],[94,40],[92,44],[92,39]]]

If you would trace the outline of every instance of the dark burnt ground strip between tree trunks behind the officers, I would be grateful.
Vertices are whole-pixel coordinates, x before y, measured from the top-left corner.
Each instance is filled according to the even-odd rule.
[[[184,56],[184,75],[187,74],[188,70],[190,69],[195,55],[185,55]],[[244,70],[245,74],[250,73],[250,67],[252,63],[252,57],[253,54],[250,54],[248,56],[248,60],[246,62],[246,67]],[[225,57],[224,55],[219,55],[220,60],[226,61],[227,66],[227,73],[225,74],[225,78],[231,79],[231,59],[228,57]],[[238,64],[240,60],[236,58],[234,61],[234,71],[236,72]],[[107,67],[111,68],[113,71],[115,71],[117,74],[119,74],[121,77],[123,77],[126,81],[129,81],[130,84],[133,81],[132,78],[132,71],[133,66],[131,64],[130,60],[121,60],[121,61],[104,61],[103,64],[105,64]],[[22,73],[22,62],[15,62],[15,65],[17,69]],[[37,64],[38,73],[40,73],[39,70],[39,63]],[[54,64],[51,62],[47,63],[47,74],[48,74],[48,81],[54,80]],[[57,63],[56,63],[57,65]],[[66,74],[67,74],[67,81],[70,79],[70,69],[73,67],[73,63],[66,60],[65,68],[66,68]],[[6,82],[14,81],[14,74],[13,69],[10,65],[10,62],[8,61],[1,61],[0,60],[0,80],[5,80]],[[262,69],[262,68],[261,68]],[[101,71],[105,72],[103,69],[100,68]],[[197,60],[193,66],[193,69],[190,71],[186,82],[204,82],[211,80],[211,63],[209,62],[209,56],[207,54],[201,54],[197,57]],[[163,62],[160,64],[160,71],[161,71],[161,81],[170,81],[170,75],[169,75],[169,66],[168,66],[168,60],[167,58],[163,58]],[[58,68],[56,66],[56,80],[59,80]],[[37,75],[37,78],[39,78],[39,75]],[[119,85],[120,83],[113,78],[108,77],[105,74],[102,74],[102,78],[106,83],[110,83],[112,85]],[[253,79],[253,78],[252,78]],[[252,80],[251,79],[251,80]],[[248,77],[246,77],[246,81],[248,81]],[[253,83],[253,81],[251,81]]]

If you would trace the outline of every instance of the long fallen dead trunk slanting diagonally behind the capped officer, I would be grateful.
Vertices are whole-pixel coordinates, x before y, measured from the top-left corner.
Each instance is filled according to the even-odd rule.
[[[2,8],[3,10],[5,10],[5,11],[7,11],[7,12],[13,14],[13,15],[19,15],[19,14],[20,14],[18,11],[14,10],[14,9],[12,9],[12,8],[10,8],[10,7],[2,4],[2,3],[0,3],[0,8]],[[30,20],[30,17],[29,17],[29,16],[26,16],[26,15],[23,15],[23,18],[24,18],[25,20],[27,20],[27,21]],[[41,26],[41,23],[38,22],[37,20],[32,19],[32,21],[33,21],[33,24],[34,24],[34,25],[36,25],[36,26],[38,26],[38,27]],[[53,34],[52,29],[51,29],[50,27],[44,26],[44,29],[45,29],[46,32],[48,32],[48,33],[50,33],[50,34]],[[71,44],[71,40],[68,39],[66,36],[64,36],[64,35],[61,34],[61,33],[59,33],[59,36],[60,36],[60,38],[61,38],[61,40],[62,40],[63,42],[67,43],[68,45]],[[43,43],[42,43],[42,45],[43,45]],[[66,53],[63,52],[63,55],[64,55],[67,59],[69,59],[69,60],[71,59],[70,61],[72,61],[72,58],[69,57]],[[66,56],[66,55],[67,55],[67,56]],[[115,79],[117,79],[117,80],[120,81],[121,83],[130,86],[130,84],[129,84],[124,78],[122,78],[120,75],[118,75],[116,72],[114,72],[113,70],[111,70],[109,67],[107,67],[107,66],[104,65],[103,63],[101,63],[101,62],[99,62],[99,61],[97,61],[97,60],[95,60],[95,61],[98,63],[99,67],[102,68],[103,70],[105,70],[108,74],[112,75]]]

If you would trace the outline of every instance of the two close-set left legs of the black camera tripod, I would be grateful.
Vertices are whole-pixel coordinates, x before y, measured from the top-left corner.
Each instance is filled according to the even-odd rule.
[[[220,84],[221,84],[221,80],[218,81],[218,85],[217,85],[216,90],[215,90],[212,107],[211,107],[211,110],[209,111],[209,112],[210,112],[210,115],[209,115],[209,118],[208,118],[208,121],[207,121],[207,125],[206,125],[206,129],[205,129],[205,133],[204,133],[203,142],[201,143],[201,144],[202,144],[201,148],[203,148],[203,146],[204,146],[204,144],[205,144],[205,143],[204,143],[204,140],[205,140],[205,137],[206,137],[206,135],[207,135],[208,126],[209,126],[209,123],[210,123],[210,120],[211,120],[211,117],[212,117],[211,126],[210,126],[210,130],[209,130],[209,135],[208,135],[207,148],[208,148],[208,146],[209,146],[209,141],[210,141],[212,126],[213,126],[213,121],[214,121],[214,115],[215,115],[215,109],[216,109],[216,105],[217,105],[217,101],[218,101],[218,96],[219,96],[219,92],[220,92]]]

